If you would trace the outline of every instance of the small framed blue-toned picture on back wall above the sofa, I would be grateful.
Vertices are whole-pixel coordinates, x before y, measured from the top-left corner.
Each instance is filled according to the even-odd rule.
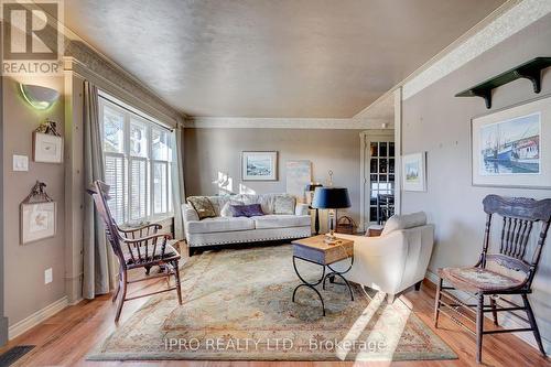
[[[278,152],[242,152],[242,181],[277,181]]]

